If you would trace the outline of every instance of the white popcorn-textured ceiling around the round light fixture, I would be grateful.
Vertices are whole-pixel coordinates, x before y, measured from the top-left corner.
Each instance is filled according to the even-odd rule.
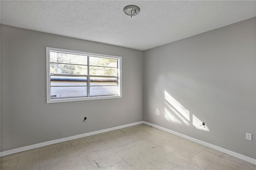
[[[256,16],[256,1],[0,1],[1,24],[146,50]],[[127,5],[140,13],[129,17]]]

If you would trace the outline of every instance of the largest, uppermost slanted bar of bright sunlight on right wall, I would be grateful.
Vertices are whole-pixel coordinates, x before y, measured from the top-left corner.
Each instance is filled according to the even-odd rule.
[[[164,91],[165,99],[178,111],[182,116],[184,116],[188,121],[190,121],[189,111],[182,104],[180,104],[176,99],[174,99],[169,93]]]

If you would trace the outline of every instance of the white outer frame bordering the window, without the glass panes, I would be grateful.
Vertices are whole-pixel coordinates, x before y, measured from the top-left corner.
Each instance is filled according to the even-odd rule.
[[[76,55],[87,55],[92,57],[106,57],[106,58],[117,59],[118,95],[50,99],[50,51],[60,52],[60,53],[72,53]],[[46,103],[85,101],[85,100],[96,100],[96,99],[115,99],[115,98],[121,98],[121,97],[122,97],[122,57],[114,56],[114,55],[98,54],[98,53],[88,53],[84,51],[75,51],[75,50],[69,50],[69,49],[46,47]]]

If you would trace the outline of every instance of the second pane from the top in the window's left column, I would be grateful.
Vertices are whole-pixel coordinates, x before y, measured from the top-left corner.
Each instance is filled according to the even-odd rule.
[[[51,74],[87,75],[87,66],[50,63],[50,73]]]

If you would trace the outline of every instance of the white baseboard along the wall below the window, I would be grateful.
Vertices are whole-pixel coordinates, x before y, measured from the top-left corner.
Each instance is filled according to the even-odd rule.
[[[120,129],[120,128],[131,127],[131,126],[139,125],[139,124],[142,124],[142,123],[143,123],[143,121],[140,121],[140,122],[130,123],[130,124],[127,124],[127,125],[121,125],[121,126],[118,126],[118,127],[106,128],[106,129],[97,130],[97,131],[94,131],[94,132],[88,132],[88,133],[78,134],[78,135],[70,136],[70,137],[66,137],[66,138],[60,138],[60,139],[50,140],[50,141],[42,142],[42,143],[38,143],[38,144],[32,144],[32,145],[29,145],[29,146],[24,146],[24,147],[12,149],[12,150],[6,150],[6,151],[3,151],[3,152],[0,152],[0,156],[15,154],[15,153],[18,153],[18,152],[23,152],[25,150],[39,148],[39,147],[42,147],[42,146],[47,146],[47,145],[50,145],[50,144],[65,142],[65,141],[73,140],[73,139],[77,139],[77,138],[83,138],[83,137],[91,136],[91,135],[94,135],[94,134],[109,132],[109,131],[117,130],[117,129]]]

